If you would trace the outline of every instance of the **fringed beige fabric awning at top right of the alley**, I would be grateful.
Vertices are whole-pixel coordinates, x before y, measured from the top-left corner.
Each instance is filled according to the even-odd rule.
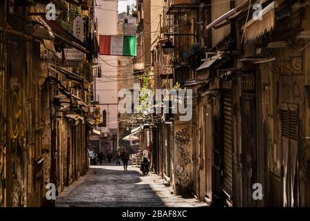
[[[254,40],[266,32],[269,32],[275,26],[275,12],[277,3],[273,1],[262,10],[262,20],[254,20],[253,18],[245,23],[242,30],[245,31],[245,42]]]

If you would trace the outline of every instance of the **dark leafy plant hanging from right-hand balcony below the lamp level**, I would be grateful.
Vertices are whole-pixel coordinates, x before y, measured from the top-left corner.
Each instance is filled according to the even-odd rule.
[[[195,43],[189,46],[189,50],[185,57],[187,58],[187,64],[193,70],[196,70],[200,66],[201,58],[203,57],[205,50],[200,44]]]

